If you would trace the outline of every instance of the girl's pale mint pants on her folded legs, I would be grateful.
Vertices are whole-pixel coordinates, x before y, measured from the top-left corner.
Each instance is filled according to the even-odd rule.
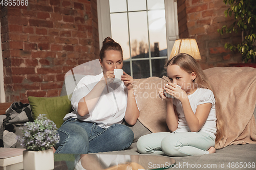
[[[160,132],[141,136],[137,142],[141,154],[169,156],[204,155],[215,146],[215,139],[205,132]]]

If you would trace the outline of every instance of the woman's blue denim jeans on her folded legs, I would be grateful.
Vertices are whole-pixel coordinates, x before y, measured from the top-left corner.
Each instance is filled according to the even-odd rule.
[[[120,124],[102,129],[96,123],[69,118],[57,130],[60,136],[56,144],[57,154],[87,154],[119,151],[129,148],[133,142],[133,131]]]

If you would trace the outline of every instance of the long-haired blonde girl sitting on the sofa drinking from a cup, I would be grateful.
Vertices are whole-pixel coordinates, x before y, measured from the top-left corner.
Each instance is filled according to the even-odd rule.
[[[141,136],[138,152],[169,156],[215,153],[215,141],[222,135],[218,131],[216,138],[216,99],[203,70],[188,54],[178,54],[166,65],[170,83],[159,89],[159,96],[166,101],[166,124],[172,133]],[[167,98],[163,90],[174,99]]]

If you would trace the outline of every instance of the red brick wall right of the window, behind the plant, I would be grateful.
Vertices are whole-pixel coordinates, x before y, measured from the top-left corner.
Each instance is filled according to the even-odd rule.
[[[178,0],[179,36],[197,40],[203,69],[242,60],[240,54],[224,48],[226,42],[241,41],[241,36],[217,32],[222,26],[233,23],[232,17],[224,15],[227,8],[223,0]]]

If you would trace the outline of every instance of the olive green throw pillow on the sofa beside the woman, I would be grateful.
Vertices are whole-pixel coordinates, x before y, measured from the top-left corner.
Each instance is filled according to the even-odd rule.
[[[63,117],[73,110],[67,95],[54,98],[37,98],[29,96],[28,100],[34,120],[40,114],[46,114],[50,120],[53,120],[57,128],[62,125]]]

